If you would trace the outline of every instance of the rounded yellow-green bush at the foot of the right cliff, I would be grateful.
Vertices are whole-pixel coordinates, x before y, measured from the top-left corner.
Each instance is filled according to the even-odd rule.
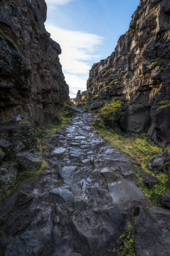
[[[101,109],[100,109],[100,116],[102,118],[110,118],[113,117],[115,113],[121,108],[122,104],[120,100],[115,100],[113,102],[106,103]]]

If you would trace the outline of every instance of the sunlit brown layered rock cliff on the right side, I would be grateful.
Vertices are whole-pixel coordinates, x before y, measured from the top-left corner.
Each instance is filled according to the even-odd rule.
[[[140,0],[115,51],[92,66],[87,93],[122,97],[123,129],[170,143],[170,0]]]

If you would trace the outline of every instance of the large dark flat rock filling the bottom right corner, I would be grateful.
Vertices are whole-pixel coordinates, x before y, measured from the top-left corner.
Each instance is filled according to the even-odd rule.
[[[170,255],[169,223],[169,210],[141,207],[135,229],[135,255]]]

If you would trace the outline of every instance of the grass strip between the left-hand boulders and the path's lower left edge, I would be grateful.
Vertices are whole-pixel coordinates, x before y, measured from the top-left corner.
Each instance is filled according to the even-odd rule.
[[[8,189],[8,190],[4,190],[4,189],[0,189],[0,204],[7,198],[9,197],[16,189],[18,189],[18,187],[25,183],[26,181],[33,179],[35,177],[37,177],[40,174],[43,174],[43,172],[48,168],[48,164],[46,161],[42,160],[41,161],[41,166],[38,170],[36,171],[21,171],[18,172],[17,174],[17,180],[16,180],[16,184],[14,185],[14,187]]]

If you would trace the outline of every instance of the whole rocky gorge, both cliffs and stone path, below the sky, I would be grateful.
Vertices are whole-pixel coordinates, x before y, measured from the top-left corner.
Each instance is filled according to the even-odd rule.
[[[0,256],[170,255],[170,0],[140,0],[76,105],[46,15],[0,2]]]

